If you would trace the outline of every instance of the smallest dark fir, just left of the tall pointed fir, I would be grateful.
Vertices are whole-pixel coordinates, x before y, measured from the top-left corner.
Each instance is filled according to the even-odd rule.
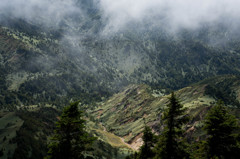
[[[153,152],[153,147],[156,143],[156,137],[152,133],[152,129],[148,126],[145,126],[143,131],[143,145],[140,148],[138,155],[139,159],[150,159],[153,158],[155,153]]]

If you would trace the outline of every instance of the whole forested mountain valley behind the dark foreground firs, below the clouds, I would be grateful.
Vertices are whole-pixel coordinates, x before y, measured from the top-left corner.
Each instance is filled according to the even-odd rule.
[[[138,152],[145,126],[161,134],[171,92],[190,117],[189,144],[206,139],[205,116],[219,100],[240,119],[236,21],[174,21],[173,29],[176,19],[158,12],[124,21],[105,0],[29,0],[25,12],[14,3],[22,2],[8,4],[15,12],[0,4],[0,158],[46,157],[55,123],[75,101],[97,137],[93,158]]]

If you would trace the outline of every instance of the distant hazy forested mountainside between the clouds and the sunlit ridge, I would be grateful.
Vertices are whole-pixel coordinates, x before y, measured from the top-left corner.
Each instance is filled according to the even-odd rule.
[[[2,79],[8,81],[5,84],[8,88],[3,90],[18,89],[16,93],[21,94],[27,91],[31,98],[37,97],[39,102],[51,101],[55,105],[60,103],[43,97],[49,87],[54,88],[53,93],[47,93],[52,99],[59,100],[61,96],[69,100],[73,96],[82,96],[84,100],[90,96],[91,100],[100,100],[130,83],[179,89],[207,77],[240,73],[237,62],[240,54],[236,44],[231,49],[221,49],[197,39],[162,39],[161,33],[148,39],[153,32],[147,32],[146,36],[126,32],[109,40],[87,36],[72,39],[70,35],[56,39],[53,34],[45,32],[29,36],[12,29],[1,29],[1,34],[5,37],[1,48],[8,46],[10,39],[13,40],[11,43],[20,45],[15,46],[16,53],[2,50],[1,66],[5,71]],[[4,63],[6,60],[15,61],[17,65],[11,64],[9,68]],[[27,77],[32,79],[30,83],[25,80]],[[14,81],[15,78],[17,80]],[[45,87],[47,81],[50,83]],[[59,89],[55,89],[57,87]],[[61,101],[66,103],[64,100]]]

